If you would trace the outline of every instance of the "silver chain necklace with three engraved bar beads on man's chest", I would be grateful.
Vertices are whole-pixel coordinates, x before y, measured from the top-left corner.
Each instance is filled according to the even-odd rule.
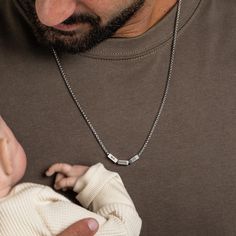
[[[134,162],[136,162],[137,160],[140,159],[141,155],[143,154],[144,150],[146,149],[146,147],[148,146],[151,137],[153,135],[153,132],[155,130],[155,128],[158,125],[160,116],[162,114],[164,105],[166,103],[167,100],[167,95],[169,92],[169,87],[170,87],[170,81],[172,78],[172,71],[173,71],[173,66],[174,66],[174,61],[175,61],[175,49],[176,49],[176,43],[177,43],[177,36],[178,36],[178,29],[179,29],[179,21],[180,21],[180,11],[181,11],[181,5],[182,5],[182,0],[178,0],[177,3],[177,12],[176,12],[176,17],[175,17],[175,24],[174,24],[174,30],[173,30],[173,39],[172,39],[172,45],[171,45],[171,55],[170,55],[170,61],[169,61],[169,69],[168,69],[168,75],[167,75],[167,81],[166,81],[166,85],[165,85],[165,89],[164,89],[164,94],[161,100],[161,104],[158,108],[157,114],[155,116],[154,122],[152,124],[152,127],[141,147],[141,149],[139,150],[139,152],[137,152],[136,155],[132,156],[130,159],[128,160],[121,160],[118,159],[117,157],[115,157],[111,152],[108,151],[107,147],[105,146],[105,144],[103,143],[102,139],[100,138],[100,136],[98,135],[98,132],[96,131],[96,129],[94,128],[93,124],[91,123],[90,119],[88,118],[85,110],[83,109],[78,97],[75,95],[74,91],[72,90],[72,87],[70,85],[68,76],[66,75],[61,61],[57,55],[57,52],[54,48],[52,48],[52,53],[53,56],[56,60],[58,69],[60,71],[60,74],[62,76],[62,79],[65,82],[65,85],[72,97],[72,99],[74,100],[77,108],[79,109],[82,117],[84,118],[85,122],[87,123],[88,127],[90,128],[91,132],[93,133],[94,137],[96,138],[98,144],[100,145],[100,147],[102,148],[102,150],[104,151],[104,153],[106,154],[107,158],[109,158],[113,163],[118,164],[118,165],[122,165],[122,166],[128,166],[133,164]]]

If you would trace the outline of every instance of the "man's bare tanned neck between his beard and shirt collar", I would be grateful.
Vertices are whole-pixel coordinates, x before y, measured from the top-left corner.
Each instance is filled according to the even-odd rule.
[[[119,29],[115,37],[137,37],[160,21],[176,4],[177,0],[146,0],[144,6]]]

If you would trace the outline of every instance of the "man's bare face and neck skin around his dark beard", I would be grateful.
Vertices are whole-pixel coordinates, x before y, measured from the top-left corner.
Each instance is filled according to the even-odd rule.
[[[74,12],[94,13],[105,23],[117,9],[122,9],[131,2],[132,0],[36,0],[36,10],[38,18],[46,26],[56,26]],[[163,18],[176,2],[177,0],[146,0],[143,8],[114,36],[135,37],[143,34]]]

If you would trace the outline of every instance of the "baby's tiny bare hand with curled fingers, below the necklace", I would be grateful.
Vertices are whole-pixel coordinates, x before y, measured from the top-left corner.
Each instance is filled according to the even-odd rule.
[[[88,166],[56,163],[49,167],[46,171],[46,175],[52,176],[56,173],[54,188],[65,191],[67,188],[73,188],[77,179],[84,175],[88,168]]]

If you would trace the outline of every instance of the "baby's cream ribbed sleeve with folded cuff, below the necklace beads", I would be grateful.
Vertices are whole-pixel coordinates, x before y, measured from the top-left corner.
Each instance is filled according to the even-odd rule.
[[[120,176],[97,164],[80,177],[74,187],[78,201],[106,221],[99,236],[138,236],[141,219]]]

